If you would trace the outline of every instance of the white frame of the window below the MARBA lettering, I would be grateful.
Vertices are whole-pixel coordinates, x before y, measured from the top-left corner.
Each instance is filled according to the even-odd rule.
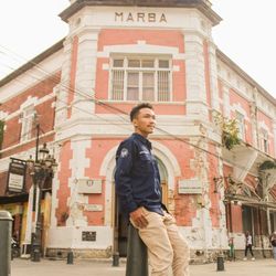
[[[114,67],[114,60],[124,60],[123,62],[123,67]],[[128,60],[139,60],[145,61],[145,60],[153,60],[153,67],[129,67],[128,66]],[[168,68],[161,68],[159,67],[159,61],[168,61],[169,62],[169,66]],[[109,65],[109,93],[108,93],[108,99],[109,100],[114,100],[114,102],[131,102],[131,99],[127,99],[127,87],[128,87],[128,73],[129,72],[138,72],[139,73],[139,83],[138,83],[138,87],[139,87],[139,96],[138,102],[142,102],[142,74],[144,73],[153,73],[155,74],[155,92],[153,92],[153,100],[147,100],[147,102],[161,102],[161,103],[170,103],[172,100],[172,57],[169,55],[113,55],[110,57],[110,65]],[[124,92],[123,92],[123,99],[114,99],[113,98],[113,75],[114,75],[114,71],[121,71],[123,75],[124,75]],[[169,77],[168,77],[168,99],[167,100],[161,100],[158,98],[158,74],[159,72],[168,72]]]

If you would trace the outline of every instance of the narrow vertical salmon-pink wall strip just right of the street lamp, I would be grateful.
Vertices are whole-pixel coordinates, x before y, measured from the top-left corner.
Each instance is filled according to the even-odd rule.
[[[71,195],[68,179],[72,177],[72,169],[70,168],[70,161],[72,158],[73,150],[71,149],[71,141],[67,141],[63,145],[60,155],[61,168],[57,174],[60,187],[56,191],[57,208],[55,210],[57,226],[65,226],[65,222],[70,212],[67,199]]]

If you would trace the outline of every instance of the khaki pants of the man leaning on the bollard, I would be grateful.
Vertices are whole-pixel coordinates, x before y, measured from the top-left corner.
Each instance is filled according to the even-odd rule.
[[[169,276],[172,267],[173,276],[189,276],[190,251],[180,235],[174,217],[164,212],[160,215],[144,209],[148,225],[138,229],[139,236],[148,247],[151,276]]]

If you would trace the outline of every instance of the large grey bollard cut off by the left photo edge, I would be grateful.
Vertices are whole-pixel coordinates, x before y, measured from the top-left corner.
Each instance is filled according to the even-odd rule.
[[[11,275],[11,214],[0,211],[0,276]]]

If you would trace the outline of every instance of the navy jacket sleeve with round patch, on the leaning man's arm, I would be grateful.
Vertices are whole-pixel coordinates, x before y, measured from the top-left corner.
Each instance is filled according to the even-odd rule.
[[[123,212],[131,213],[138,205],[134,201],[131,169],[135,158],[135,144],[126,140],[120,144],[116,153],[115,187]]]

